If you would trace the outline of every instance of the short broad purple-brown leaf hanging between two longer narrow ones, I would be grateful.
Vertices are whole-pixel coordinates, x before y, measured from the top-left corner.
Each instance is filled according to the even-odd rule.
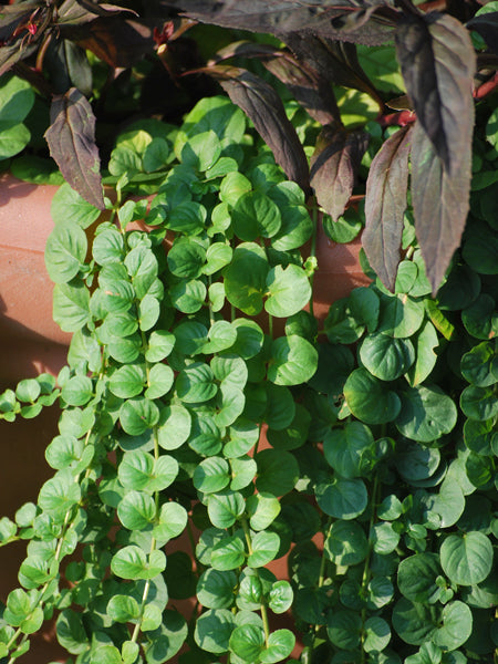
[[[351,198],[356,170],[369,145],[364,132],[323,127],[311,157],[311,186],[317,200],[334,221]]]

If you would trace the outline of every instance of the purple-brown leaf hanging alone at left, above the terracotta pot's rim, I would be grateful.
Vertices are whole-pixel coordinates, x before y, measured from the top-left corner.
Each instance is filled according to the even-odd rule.
[[[50,120],[45,138],[64,179],[85,200],[103,210],[101,160],[95,145],[92,106],[79,90],[72,87],[53,98]]]

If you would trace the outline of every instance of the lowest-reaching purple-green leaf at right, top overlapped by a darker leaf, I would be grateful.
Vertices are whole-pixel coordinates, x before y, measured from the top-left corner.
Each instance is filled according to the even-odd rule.
[[[412,137],[412,203],[427,278],[436,293],[459,247],[469,208],[471,143],[449,174],[419,123]]]

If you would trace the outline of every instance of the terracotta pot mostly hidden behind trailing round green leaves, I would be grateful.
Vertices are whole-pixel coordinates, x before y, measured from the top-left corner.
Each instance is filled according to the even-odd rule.
[[[55,191],[54,186],[30,185],[8,174],[0,178],[0,390],[41,372],[56,374],[65,364],[71,335],[52,320],[53,284],[43,258],[46,238],[53,229],[50,207]],[[313,307],[322,323],[334,300],[347,295],[357,286],[366,286],[369,279],[359,266],[359,241],[335,245],[326,238],[321,225],[318,234],[319,270],[313,282]],[[278,326],[276,332],[283,333]],[[35,500],[40,487],[50,477],[52,471],[43,455],[55,435],[56,419],[58,412],[51,408],[33,421],[19,421],[14,425],[0,423],[2,445],[8,448],[9,458],[0,473],[1,516],[13,517],[23,502]],[[18,481],[20,477],[22,483]],[[14,481],[9,481],[10,478]],[[0,549],[0,599],[3,601],[17,585],[15,571],[24,554],[23,546]],[[286,559],[274,561],[271,569],[284,578]],[[56,643],[52,647],[50,656],[61,656]],[[48,649],[50,644],[35,640],[31,654],[23,661],[39,664],[49,656]]]

